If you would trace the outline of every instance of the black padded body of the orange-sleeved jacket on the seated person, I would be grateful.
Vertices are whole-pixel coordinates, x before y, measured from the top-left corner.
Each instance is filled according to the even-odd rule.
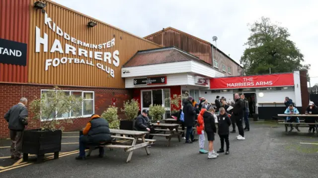
[[[89,121],[91,126],[87,133],[90,142],[111,141],[108,122],[103,118],[95,118]]]

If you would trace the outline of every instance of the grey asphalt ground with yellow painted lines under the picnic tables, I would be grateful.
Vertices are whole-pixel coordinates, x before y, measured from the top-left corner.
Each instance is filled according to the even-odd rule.
[[[230,155],[220,154],[207,159],[199,154],[198,142],[185,144],[171,139],[154,137],[156,143],[147,156],[145,149],[134,151],[131,162],[123,149],[105,149],[105,157],[98,158],[98,150],[90,158],[75,160],[78,155],[78,133],[64,133],[62,151],[57,160],[33,164],[13,161],[9,157],[9,140],[0,140],[0,178],[317,178],[318,137],[308,133],[286,135],[283,126],[275,123],[251,123],[245,132],[246,140],[230,134]],[[300,128],[307,132],[308,128]],[[196,136],[198,137],[198,136]],[[215,150],[220,148],[215,136]],[[207,139],[207,137],[206,137]],[[73,144],[74,143],[74,144]],[[314,143],[314,144],[304,144]],[[316,143],[316,144],[315,144]],[[205,147],[208,147],[206,140]],[[73,152],[72,152],[73,151]],[[50,158],[52,155],[46,155]],[[3,158],[4,157],[4,158]]]

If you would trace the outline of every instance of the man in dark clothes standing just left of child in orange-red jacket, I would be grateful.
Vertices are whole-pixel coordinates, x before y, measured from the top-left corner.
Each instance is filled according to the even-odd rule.
[[[184,125],[187,127],[186,134],[185,134],[185,142],[192,143],[193,141],[198,141],[198,139],[194,138],[193,135],[193,127],[195,125],[195,116],[196,112],[192,105],[192,96],[189,96],[187,100],[184,101],[183,105],[183,113],[184,113]],[[191,136],[191,140],[189,137]]]

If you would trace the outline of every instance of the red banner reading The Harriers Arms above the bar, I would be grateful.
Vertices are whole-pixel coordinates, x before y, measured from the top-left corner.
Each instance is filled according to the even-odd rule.
[[[272,74],[210,79],[210,89],[243,89],[294,86],[294,74]]]

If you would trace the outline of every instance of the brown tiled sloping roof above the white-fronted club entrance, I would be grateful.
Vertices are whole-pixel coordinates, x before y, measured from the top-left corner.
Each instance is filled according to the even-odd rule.
[[[135,67],[182,61],[195,61],[211,67],[210,64],[204,62],[200,58],[175,46],[138,51],[123,65],[123,67]]]

